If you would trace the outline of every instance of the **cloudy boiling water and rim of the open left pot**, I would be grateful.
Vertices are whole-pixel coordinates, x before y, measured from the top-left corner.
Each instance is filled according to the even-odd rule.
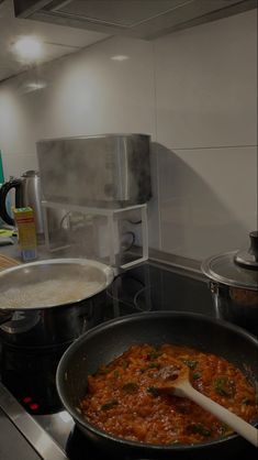
[[[108,265],[83,259],[56,259],[9,269],[0,274],[0,309],[33,309],[77,303],[113,280]]]

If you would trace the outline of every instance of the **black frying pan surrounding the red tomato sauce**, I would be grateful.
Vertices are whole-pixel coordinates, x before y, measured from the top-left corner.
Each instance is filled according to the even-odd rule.
[[[226,321],[199,314],[156,311],[136,314],[102,324],[75,341],[57,369],[59,397],[78,428],[100,449],[133,458],[206,459],[212,453],[229,458],[232,449],[249,447],[237,435],[192,446],[153,446],[109,435],[89,424],[79,410],[87,393],[87,376],[135,343],[175,343],[218,354],[237,365],[254,383],[258,379],[258,341],[249,332]],[[227,457],[228,454],[228,457]],[[108,456],[108,458],[111,458]],[[213,458],[213,457],[212,457]]]

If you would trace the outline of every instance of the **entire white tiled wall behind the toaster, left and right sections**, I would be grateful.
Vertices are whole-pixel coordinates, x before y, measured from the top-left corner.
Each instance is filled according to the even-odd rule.
[[[31,79],[47,86],[26,92]],[[0,85],[7,176],[36,167],[38,139],[103,132],[152,134],[152,247],[193,259],[245,247],[257,227],[256,10],[154,42],[109,39]]]

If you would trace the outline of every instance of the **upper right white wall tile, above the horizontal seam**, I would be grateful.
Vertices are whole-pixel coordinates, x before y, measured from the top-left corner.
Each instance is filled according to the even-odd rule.
[[[160,143],[257,144],[255,10],[159,39],[155,59]]]

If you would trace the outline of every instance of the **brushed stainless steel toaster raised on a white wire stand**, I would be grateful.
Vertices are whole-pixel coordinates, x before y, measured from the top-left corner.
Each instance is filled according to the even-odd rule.
[[[36,143],[45,200],[94,207],[148,201],[150,138],[103,134]]]

